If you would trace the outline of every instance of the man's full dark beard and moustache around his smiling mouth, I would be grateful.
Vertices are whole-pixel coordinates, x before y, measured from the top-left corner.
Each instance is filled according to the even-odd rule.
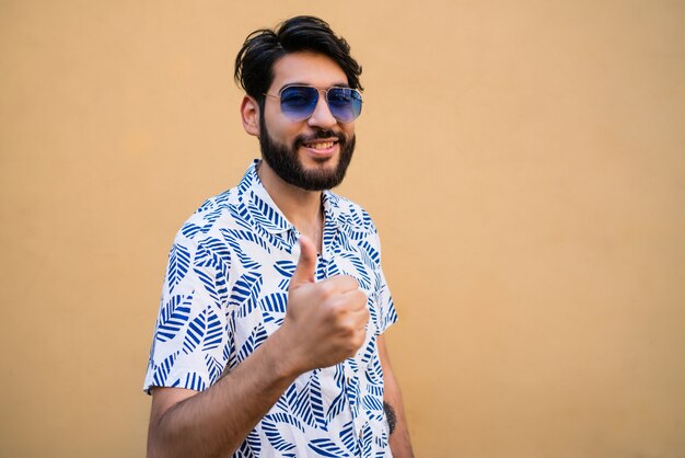
[[[262,117],[259,123],[259,148],[262,149],[262,159],[276,172],[276,174],[286,183],[301,187],[306,191],[324,191],[336,187],[342,182],[347,167],[352,160],[355,152],[355,144],[357,138],[352,136],[349,141],[342,134],[336,134],[333,130],[316,130],[314,135],[295,137],[290,147],[278,144],[272,140],[266,128],[266,123]],[[314,169],[305,169],[298,158],[298,148],[306,142],[316,139],[333,138],[338,140],[340,152],[338,154],[338,163],[335,168],[326,168],[326,162],[330,159],[324,159],[320,162],[320,167]]]

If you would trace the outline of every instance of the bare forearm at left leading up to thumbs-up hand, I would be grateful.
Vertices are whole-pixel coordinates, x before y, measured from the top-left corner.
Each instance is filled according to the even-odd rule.
[[[148,457],[230,456],[297,376],[277,332],[206,391],[167,409],[153,401]]]

